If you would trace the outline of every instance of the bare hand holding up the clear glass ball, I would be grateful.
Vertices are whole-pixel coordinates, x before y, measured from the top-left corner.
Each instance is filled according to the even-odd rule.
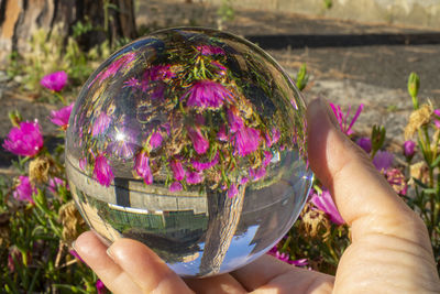
[[[336,276],[264,255],[232,273],[182,280],[147,247],[120,239],[107,248],[91,231],[75,250],[113,293],[440,293],[422,220],[337,126],[326,101],[307,111],[310,166],[351,227]]]

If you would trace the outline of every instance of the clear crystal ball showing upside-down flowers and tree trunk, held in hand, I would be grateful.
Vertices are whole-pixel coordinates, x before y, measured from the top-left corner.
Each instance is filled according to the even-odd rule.
[[[69,119],[66,173],[101,239],[139,240],[182,276],[233,271],[289,230],[310,189],[305,102],[264,51],[176,28],[112,54]]]

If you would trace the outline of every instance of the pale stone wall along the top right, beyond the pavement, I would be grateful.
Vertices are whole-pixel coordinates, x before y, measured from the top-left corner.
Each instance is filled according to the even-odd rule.
[[[205,1],[217,6],[223,2]],[[233,1],[233,7],[440,30],[440,0],[240,0]]]

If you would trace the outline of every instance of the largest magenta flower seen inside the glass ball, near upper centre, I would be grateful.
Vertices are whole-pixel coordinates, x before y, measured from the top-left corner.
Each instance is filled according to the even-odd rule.
[[[224,100],[233,100],[232,92],[223,85],[212,80],[196,81],[180,99],[188,97],[187,106],[200,108],[220,108]]]

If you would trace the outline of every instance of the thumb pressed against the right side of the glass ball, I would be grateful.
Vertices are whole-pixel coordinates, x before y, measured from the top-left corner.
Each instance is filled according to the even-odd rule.
[[[340,131],[327,102],[314,100],[307,119],[310,166],[352,227],[353,241],[373,231],[414,238],[416,232],[408,230],[407,221],[417,222],[418,217],[376,171],[366,153]],[[406,225],[396,227],[396,221]],[[400,227],[405,229],[397,232]],[[431,250],[429,244],[427,250]]]

